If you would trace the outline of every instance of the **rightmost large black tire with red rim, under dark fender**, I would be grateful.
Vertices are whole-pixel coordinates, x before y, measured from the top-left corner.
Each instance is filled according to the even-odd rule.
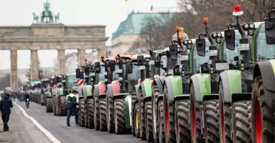
[[[266,105],[266,100],[265,100],[266,97],[264,92],[262,76],[258,76],[254,78],[252,88],[253,88],[252,104],[251,104],[252,142],[255,143],[258,140],[258,142],[262,141],[266,143],[273,143],[274,142],[273,110],[272,108]],[[255,126],[259,124],[259,121],[261,121],[262,127],[260,125],[258,127],[262,128],[262,132],[258,131],[258,127]],[[256,133],[259,133],[259,135],[262,133],[262,140],[257,138]]]

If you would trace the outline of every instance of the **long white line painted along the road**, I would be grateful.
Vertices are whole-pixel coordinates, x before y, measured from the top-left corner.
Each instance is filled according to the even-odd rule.
[[[32,123],[35,124],[35,126],[38,127],[39,130],[42,131],[53,143],[61,143],[49,131],[47,131],[44,127],[42,127],[33,117],[29,116],[21,106],[19,106],[15,102],[13,102],[13,103],[22,111],[24,116],[29,118],[32,121]]]

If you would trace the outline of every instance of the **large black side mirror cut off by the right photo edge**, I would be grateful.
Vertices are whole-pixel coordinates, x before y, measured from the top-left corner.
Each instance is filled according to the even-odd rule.
[[[275,44],[275,17],[270,17],[270,13],[274,13],[275,8],[268,11],[268,17],[265,18],[266,44]]]

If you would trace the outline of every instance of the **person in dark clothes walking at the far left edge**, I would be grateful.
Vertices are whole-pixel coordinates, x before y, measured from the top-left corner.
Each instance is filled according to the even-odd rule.
[[[2,120],[4,123],[3,131],[9,131],[9,115],[11,113],[10,108],[13,107],[13,102],[9,99],[9,94],[6,94],[6,96],[0,101],[0,111],[2,114]]]

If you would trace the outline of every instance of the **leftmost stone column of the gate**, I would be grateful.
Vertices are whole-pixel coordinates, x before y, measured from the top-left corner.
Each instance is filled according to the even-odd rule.
[[[10,88],[12,92],[18,92],[17,78],[17,50],[10,50]]]

